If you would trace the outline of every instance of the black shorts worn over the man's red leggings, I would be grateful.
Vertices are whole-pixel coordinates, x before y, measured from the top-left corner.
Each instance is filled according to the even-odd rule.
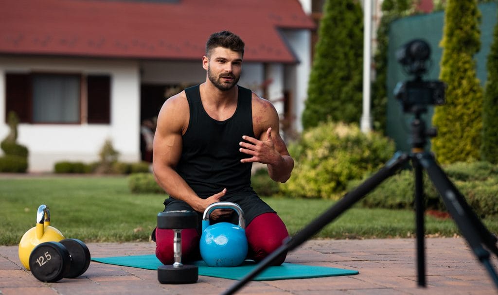
[[[254,219],[256,216],[261,215],[263,213],[276,213],[267,203],[265,203],[261,198],[257,196],[257,194],[251,189],[248,188],[242,192],[238,192],[233,195],[225,195],[220,198],[220,201],[233,202],[241,206],[242,211],[244,212],[244,219],[246,220],[246,226]],[[179,210],[190,210],[193,211],[192,207],[182,200],[175,199],[173,197],[169,197],[164,200],[164,210],[167,211],[179,211]],[[198,213],[199,227],[197,231],[201,234],[202,229],[202,215],[203,213]],[[239,217],[237,213],[234,211],[230,217],[218,219],[216,222],[232,222],[235,224],[239,223]],[[155,240],[155,229],[152,232],[152,240]]]

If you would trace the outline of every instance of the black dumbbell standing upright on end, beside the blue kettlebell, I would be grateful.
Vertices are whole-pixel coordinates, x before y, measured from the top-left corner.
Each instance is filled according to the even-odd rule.
[[[194,211],[168,211],[157,214],[157,228],[172,229],[173,256],[172,265],[161,265],[157,268],[157,280],[161,284],[192,284],[199,279],[199,269],[195,265],[182,264],[181,231],[185,228],[197,228],[198,216]]]

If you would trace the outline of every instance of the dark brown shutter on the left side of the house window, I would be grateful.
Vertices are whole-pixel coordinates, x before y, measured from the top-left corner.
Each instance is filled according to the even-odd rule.
[[[29,74],[5,74],[5,120],[14,111],[19,122],[31,122],[31,83]]]

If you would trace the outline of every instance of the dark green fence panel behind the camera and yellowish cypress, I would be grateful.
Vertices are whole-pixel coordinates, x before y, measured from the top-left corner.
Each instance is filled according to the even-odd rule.
[[[486,60],[490,53],[493,42],[493,30],[497,23],[497,3],[479,4],[482,13],[481,18],[481,50],[476,54],[477,77],[484,86],[487,77]],[[412,39],[424,39],[431,46],[431,66],[423,76],[424,80],[437,80],[440,71],[442,48],[439,43],[443,37],[444,12],[414,15],[404,17],[392,22],[389,28],[389,47],[387,62],[387,109],[386,109],[386,134],[394,140],[396,148],[403,152],[411,149],[411,127],[412,114],[402,112],[401,103],[394,98],[393,90],[398,82],[409,81],[414,77],[407,75],[402,66],[396,61],[396,50]],[[437,107],[437,106],[436,106]],[[422,116],[431,127],[433,107],[429,106],[427,112]],[[430,148],[430,144],[426,147]]]

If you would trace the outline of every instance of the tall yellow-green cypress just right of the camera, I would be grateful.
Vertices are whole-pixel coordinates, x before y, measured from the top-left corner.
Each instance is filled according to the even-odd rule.
[[[480,158],[483,90],[474,54],[481,46],[481,12],[476,0],[448,0],[444,19],[439,79],[447,84],[446,103],[435,107],[432,123],[438,136],[432,148],[440,163]]]

